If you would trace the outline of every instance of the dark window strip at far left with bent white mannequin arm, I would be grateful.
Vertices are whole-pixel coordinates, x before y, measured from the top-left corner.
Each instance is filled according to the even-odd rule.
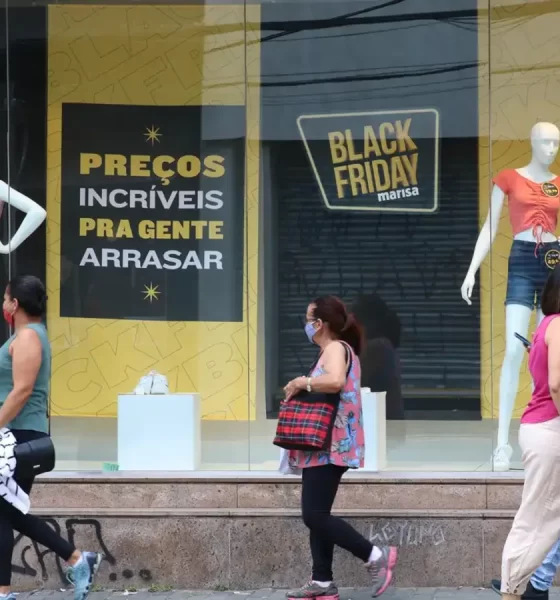
[[[12,10],[12,9],[10,9]],[[13,14],[23,11],[13,9]],[[0,288],[17,273],[45,280],[47,73],[34,62],[46,44],[40,11],[8,27],[7,8],[0,11]],[[39,33],[37,37],[35,35]],[[34,54],[35,49],[38,54]],[[9,61],[7,60],[9,57]],[[0,326],[0,343],[11,331]]]

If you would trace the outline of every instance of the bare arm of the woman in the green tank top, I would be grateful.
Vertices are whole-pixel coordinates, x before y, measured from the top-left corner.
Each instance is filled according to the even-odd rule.
[[[0,428],[17,417],[33,391],[41,368],[41,340],[33,329],[23,329],[12,342],[10,352],[14,387],[0,408]]]

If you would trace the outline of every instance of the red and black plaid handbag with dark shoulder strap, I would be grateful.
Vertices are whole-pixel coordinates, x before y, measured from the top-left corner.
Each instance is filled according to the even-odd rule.
[[[349,350],[346,345],[344,347],[348,355]],[[351,357],[352,355],[347,378],[352,368]],[[340,393],[326,394],[306,390],[291,398],[289,402],[283,402],[273,444],[285,450],[328,450],[339,402]]]

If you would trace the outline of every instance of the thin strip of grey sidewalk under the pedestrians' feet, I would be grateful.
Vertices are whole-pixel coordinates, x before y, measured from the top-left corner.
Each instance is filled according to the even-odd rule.
[[[92,592],[89,600],[285,600],[285,590],[263,589],[252,592],[205,592],[172,590],[161,592]],[[48,590],[18,594],[18,600],[72,600],[71,591]],[[386,600],[498,600],[496,592],[484,588],[390,588],[382,596]],[[550,597],[560,600],[560,588],[553,588]],[[340,600],[370,600],[366,588],[343,588]]]

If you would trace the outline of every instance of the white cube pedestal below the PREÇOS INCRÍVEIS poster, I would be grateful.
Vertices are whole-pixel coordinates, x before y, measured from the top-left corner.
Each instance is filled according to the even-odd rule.
[[[119,395],[119,471],[196,471],[198,394]]]

